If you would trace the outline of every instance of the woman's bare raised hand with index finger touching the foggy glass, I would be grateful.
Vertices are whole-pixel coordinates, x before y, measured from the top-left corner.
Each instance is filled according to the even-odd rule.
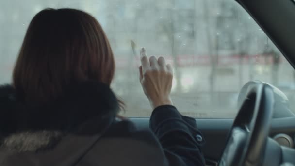
[[[141,66],[139,67],[140,83],[153,109],[161,105],[172,105],[170,98],[173,69],[166,65],[165,59],[158,60],[151,56],[148,60],[146,50],[140,50]]]

